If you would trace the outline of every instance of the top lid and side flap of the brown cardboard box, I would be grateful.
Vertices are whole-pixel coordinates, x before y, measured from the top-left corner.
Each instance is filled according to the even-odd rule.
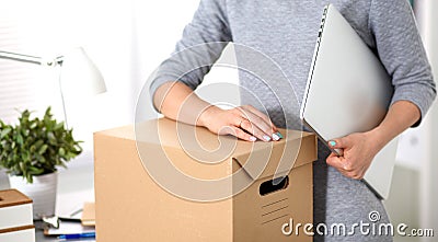
[[[203,127],[160,118],[138,123],[135,129],[123,127],[99,134],[183,150],[193,160],[205,164],[233,159],[256,180],[284,174],[316,160],[316,138],[313,134],[286,129],[280,129],[280,132],[285,138],[279,141],[249,142],[232,136],[218,136]]]

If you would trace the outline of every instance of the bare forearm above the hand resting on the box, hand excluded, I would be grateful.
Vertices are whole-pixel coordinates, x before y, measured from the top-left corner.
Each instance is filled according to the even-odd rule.
[[[198,126],[205,126],[199,118],[207,108],[218,108],[178,81],[166,82],[158,88],[153,95],[153,105],[168,118]]]

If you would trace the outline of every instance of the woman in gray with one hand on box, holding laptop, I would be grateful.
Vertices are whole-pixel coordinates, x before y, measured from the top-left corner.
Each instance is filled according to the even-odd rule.
[[[361,178],[382,147],[405,129],[419,125],[436,97],[436,85],[406,0],[330,2],[380,58],[392,77],[394,94],[378,127],[328,142],[333,148],[344,149],[342,157],[319,143],[319,160],[313,164],[314,224],[344,223],[349,228],[360,220],[367,221],[371,211],[379,212],[380,222],[388,223],[382,201]],[[322,10],[327,3],[327,0],[200,0],[176,44],[176,54],[183,55],[184,49],[205,43],[233,42],[275,61],[290,83],[275,78],[261,81],[240,71],[240,87],[250,90],[265,105],[264,111],[247,95],[241,96],[242,106],[231,110],[204,101],[194,90],[211,65],[193,67],[194,70],[184,73],[182,69],[187,64],[215,62],[226,46],[217,44],[185,57],[170,57],[161,64],[150,85],[154,107],[169,118],[204,126],[215,134],[231,134],[247,141],[279,139],[275,135],[277,127],[296,127],[299,110],[293,105],[279,106],[276,96],[288,99],[293,87],[297,100],[302,100]],[[280,88],[269,89],[273,82]],[[392,241],[392,237],[367,235],[356,230],[353,235],[315,233],[314,240]]]

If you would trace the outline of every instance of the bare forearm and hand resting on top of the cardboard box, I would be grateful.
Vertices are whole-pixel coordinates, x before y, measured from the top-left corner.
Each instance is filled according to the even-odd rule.
[[[218,135],[232,135],[247,141],[283,138],[269,117],[255,107],[243,105],[221,110],[199,99],[183,82],[160,85],[153,95],[153,104],[169,118],[203,126]]]

